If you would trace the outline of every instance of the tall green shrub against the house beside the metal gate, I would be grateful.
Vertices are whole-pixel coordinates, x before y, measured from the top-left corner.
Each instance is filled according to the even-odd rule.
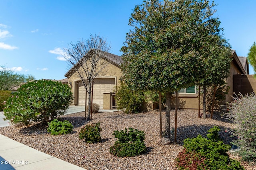
[[[125,113],[139,113],[144,100],[143,92],[130,90],[124,82],[121,82],[117,88],[116,104]]]

